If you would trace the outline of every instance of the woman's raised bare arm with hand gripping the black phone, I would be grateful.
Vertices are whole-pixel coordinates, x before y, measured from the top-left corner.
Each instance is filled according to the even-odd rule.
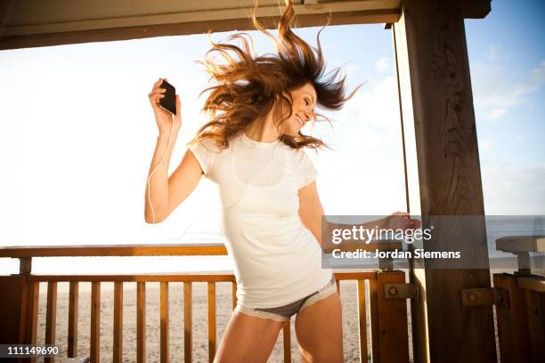
[[[182,117],[178,95],[176,95],[175,117],[159,108],[159,99],[163,97],[162,88],[159,86],[161,82],[162,80],[159,79],[149,94],[159,127],[159,137],[151,160],[148,182],[146,182],[144,219],[148,223],[164,221],[176,206],[179,206],[195,190],[203,174],[197,159],[188,149],[175,172],[170,177],[167,175],[172,150],[182,127]],[[168,142],[171,132],[171,139]]]

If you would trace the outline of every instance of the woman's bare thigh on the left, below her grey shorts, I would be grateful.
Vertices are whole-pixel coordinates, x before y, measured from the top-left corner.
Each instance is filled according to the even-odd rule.
[[[284,322],[233,311],[214,363],[265,363]]]

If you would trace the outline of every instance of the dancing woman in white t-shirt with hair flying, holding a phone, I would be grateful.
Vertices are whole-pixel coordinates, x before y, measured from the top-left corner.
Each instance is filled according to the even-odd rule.
[[[204,106],[211,121],[199,129],[170,177],[168,161],[182,125],[180,99],[176,95],[172,119],[159,108],[162,80],[149,95],[159,138],[146,191],[146,222],[164,220],[203,174],[220,190],[238,304],[216,362],[265,362],[283,322],[294,314],[304,361],[343,361],[341,302],[332,270],[321,268],[324,212],[317,172],[303,149],[325,145],[300,130],[317,116],[317,105],[341,109],[357,88],[345,97],[345,78],[335,80],[338,69],[323,79],[320,32],[318,48],[311,48],[290,30],[294,19],[287,1],[274,37],[256,20],[254,8],[253,23],[273,39],[278,56],[257,57],[245,34],[230,37],[243,49],[212,42],[202,62],[217,82],[205,90],[211,91]],[[226,63],[211,60],[211,52],[219,52]],[[159,165],[163,153],[167,163]]]

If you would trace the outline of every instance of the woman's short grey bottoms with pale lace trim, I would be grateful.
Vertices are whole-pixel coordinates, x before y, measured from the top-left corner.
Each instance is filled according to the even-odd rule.
[[[295,303],[289,303],[277,308],[250,308],[238,303],[234,311],[240,311],[256,318],[288,321],[292,315],[336,292],[337,284],[335,282],[335,275],[333,275],[326,286],[321,287],[321,289],[314,291],[313,294],[309,294],[303,299],[297,300]]]

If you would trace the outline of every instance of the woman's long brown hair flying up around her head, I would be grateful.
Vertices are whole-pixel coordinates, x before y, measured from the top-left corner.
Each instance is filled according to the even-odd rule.
[[[276,105],[276,101],[283,100],[289,105],[288,117],[293,112],[293,100],[287,91],[297,89],[306,83],[313,85],[317,100],[316,103],[323,109],[341,109],[344,103],[354,96],[360,88],[358,85],[348,97],[345,97],[345,79],[336,80],[340,69],[334,69],[324,75],[325,60],[321,52],[320,33],[327,27],[329,20],[316,36],[317,48],[305,43],[303,39],[291,31],[291,24],[296,20],[291,0],[285,0],[285,9],[278,23],[278,36],[273,36],[256,19],[257,1],[251,14],[252,23],[256,29],[273,39],[278,56],[266,54],[256,56],[254,42],[247,33],[236,33],[227,38],[228,41],[239,40],[242,48],[233,44],[214,43],[208,41],[212,48],[207,51],[205,60],[198,62],[204,65],[210,80],[214,78],[217,85],[208,87],[202,93],[211,91],[207,97],[202,111],[207,113],[210,121],[202,125],[195,138],[188,142],[200,141],[205,138],[213,138],[220,148],[228,148],[229,140],[246,130],[248,125],[258,117],[264,117]],[[248,37],[248,40],[246,39]],[[226,64],[218,64],[210,55],[218,52],[226,60]],[[233,58],[234,53],[238,60]],[[328,77],[329,76],[329,77]],[[202,93],[199,94],[202,95]],[[275,108],[275,118],[276,108]],[[321,117],[330,120],[320,114],[314,114],[314,118]],[[278,128],[278,125],[276,125]],[[280,133],[280,130],[279,130]],[[281,134],[282,142],[292,148],[308,147],[312,149],[327,147],[323,141],[313,136],[298,132],[296,137]]]

